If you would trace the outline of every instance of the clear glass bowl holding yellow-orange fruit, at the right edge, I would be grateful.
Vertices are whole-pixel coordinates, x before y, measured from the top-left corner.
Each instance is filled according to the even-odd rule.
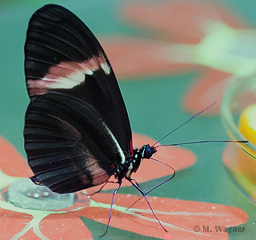
[[[238,122],[246,106],[255,103],[256,74],[250,78],[230,79],[230,86],[222,99],[221,117],[227,133],[233,140],[246,140],[239,130]],[[246,197],[256,202],[256,146],[252,142],[227,145],[222,159],[239,189]]]

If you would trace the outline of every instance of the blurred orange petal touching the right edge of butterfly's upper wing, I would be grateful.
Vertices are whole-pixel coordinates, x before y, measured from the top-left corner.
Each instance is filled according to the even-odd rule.
[[[170,60],[165,50],[170,46],[169,42],[127,37],[101,38],[101,42],[119,80],[184,74],[194,69],[193,64],[181,64]]]

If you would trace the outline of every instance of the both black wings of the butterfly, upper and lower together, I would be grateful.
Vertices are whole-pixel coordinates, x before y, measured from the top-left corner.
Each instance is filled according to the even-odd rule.
[[[106,182],[132,154],[118,82],[97,39],[62,6],[29,22],[25,150],[35,178],[59,193]]]

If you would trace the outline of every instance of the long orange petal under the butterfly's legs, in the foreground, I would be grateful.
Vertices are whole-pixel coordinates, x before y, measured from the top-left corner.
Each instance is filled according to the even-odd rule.
[[[79,214],[106,224],[110,209],[103,208],[103,205],[101,208],[100,204],[110,204],[111,198],[112,194],[96,194],[92,199],[98,204],[80,211]],[[130,194],[117,194],[115,196],[110,226],[154,238],[217,240],[229,239],[226,227],[237,226],[248,219],[248,215],[243,210],[233,206],[172,198],[150,196],[147,198],[154,213],[168,230],[168,234],[156,222],[145,199],[137,202],[130,210],[125,211],[126,207],[138,199],[138,196]]]

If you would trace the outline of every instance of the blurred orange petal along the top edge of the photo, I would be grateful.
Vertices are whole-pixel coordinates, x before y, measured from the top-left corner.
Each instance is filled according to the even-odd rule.
[[[163,35],[171,42],[198,44],[206,34],[207,21],[244,27],[242,18],[234,12],[214,2],[170,1],[128,3],[122,15],[136,26],[156,30],[161,38]]]

